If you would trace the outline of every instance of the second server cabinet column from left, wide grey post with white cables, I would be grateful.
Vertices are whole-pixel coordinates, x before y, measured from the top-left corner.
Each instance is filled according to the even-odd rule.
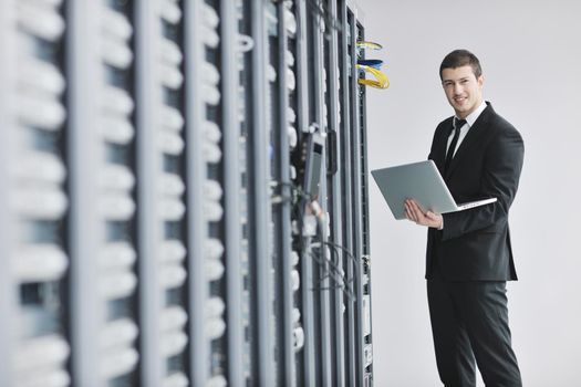
[[[124,386],[139,358],[132,9],[66,6],[72,384]]]

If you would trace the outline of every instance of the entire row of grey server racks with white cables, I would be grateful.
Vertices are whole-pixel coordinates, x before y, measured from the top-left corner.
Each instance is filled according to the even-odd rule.
[[[372,385],[356,6],[0,11],[0,384]]]

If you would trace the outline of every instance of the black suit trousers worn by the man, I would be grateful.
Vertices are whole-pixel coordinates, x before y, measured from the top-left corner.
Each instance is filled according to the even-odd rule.
[[[511,347],[506,282],[449,282],[439,268],[427,280],[439,378],[446,387],[476,386],[476,364],[487,387],[520,387]]]

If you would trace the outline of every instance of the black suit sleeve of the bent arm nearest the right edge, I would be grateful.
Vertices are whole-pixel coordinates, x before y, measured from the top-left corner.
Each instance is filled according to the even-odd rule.
[[[511,126],[499,129],[486,151],[480,180],[481,197],[495,197],[497,201],[445,213],[442,240],[483,229],[499,231],[505,227],[517,194],[523,156],[525,145],[520,134]]]

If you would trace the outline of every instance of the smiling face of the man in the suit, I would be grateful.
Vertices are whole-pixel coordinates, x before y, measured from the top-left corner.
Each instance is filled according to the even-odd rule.
[[[474,75],[470,65],[444,69],[442,71],[442,85],[459,118],[466,118],[483,103],[484,77]]]

